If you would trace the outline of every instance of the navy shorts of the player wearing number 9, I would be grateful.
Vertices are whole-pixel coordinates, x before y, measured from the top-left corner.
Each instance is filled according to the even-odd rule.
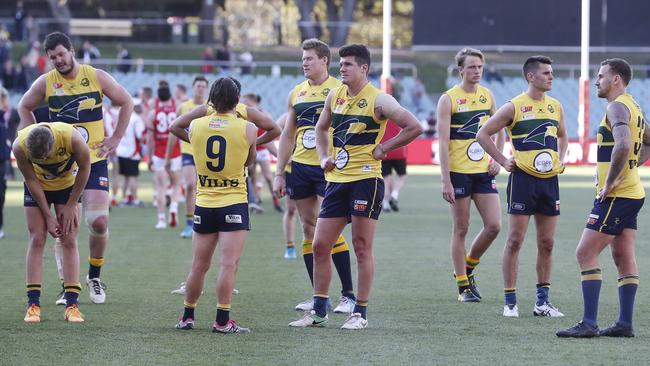
[[[250,230],[248,203],[218,208],[196,206],[193,226],[194,231],[199,234]]]

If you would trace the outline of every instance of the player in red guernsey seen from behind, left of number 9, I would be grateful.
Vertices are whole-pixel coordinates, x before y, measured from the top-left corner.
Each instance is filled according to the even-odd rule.
[[[178,216],[178,187],[181,170],[181,149],[176,144],[169,156],[169,166],[165,167],[165,154],[169,138],[169,125],[176,119],[176,104],[171,97],[169,85],[161,82],[158,87],[158,98],[154,108],[147,118],[147,145],[149,149],[149,167],[154,173],[156,189],[156,204],[158,207],[158,223],[156,229],[165,229],[167,220],[165,215],[166,187],[171,187],[171,203],[169,205],[169,225],[176,226]]]

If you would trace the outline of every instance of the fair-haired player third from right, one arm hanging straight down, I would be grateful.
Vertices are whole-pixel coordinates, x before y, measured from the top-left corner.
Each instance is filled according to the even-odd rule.
[[[460,50],[456,63],[461,83],[447,90],[438,101],[442,197],[451,205],[451,258],[460,302],[480,301],[473,271],[501,230],[501,205],[494,178],[501,167],[490,161],[476,141],[481,125],[496,112],[494,96],[479,84],[484,62],[481,51]],[[503,150],[504,140],[503,132],[498,131],[498,151]],[[471,201],[481,215],[483,229],[467,253],[465,236],[469,230]]]

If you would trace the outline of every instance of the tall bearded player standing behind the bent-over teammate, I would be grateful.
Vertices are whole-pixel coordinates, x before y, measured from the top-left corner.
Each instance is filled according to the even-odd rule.
[[[107,72],[75,60],[70,38],[54,32],[45,37],[43,48],[54,69],[41,75],[25,93],[18,105],[22,127],[36,123],[33,111],[46,101],[50,122],[64,122],[81,133],[90,148],[90,176],[83,193],[84,216],[88,226],[88,276],[86,285],[90,300],[96,304],[106,301],[105,285],[100,280],[104,254],[108,246],[108,164],[120,143],[133,112],[129,93]],[[113,135],[105,137],[103,99],[120,107]],[[58,246],[58,245],[57,245]],[[59,261],[57,260],[57,263]]]

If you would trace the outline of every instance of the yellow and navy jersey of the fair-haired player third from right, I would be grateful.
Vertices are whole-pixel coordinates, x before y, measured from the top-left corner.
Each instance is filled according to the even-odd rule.
[[[490,159],[476,140],[476,134],[490,118],[494,105],[492,94],[481,85],[474,93],[468,93],[458,85],[445,93],[451,100],[449,171],[465,174],[487,172]]]

